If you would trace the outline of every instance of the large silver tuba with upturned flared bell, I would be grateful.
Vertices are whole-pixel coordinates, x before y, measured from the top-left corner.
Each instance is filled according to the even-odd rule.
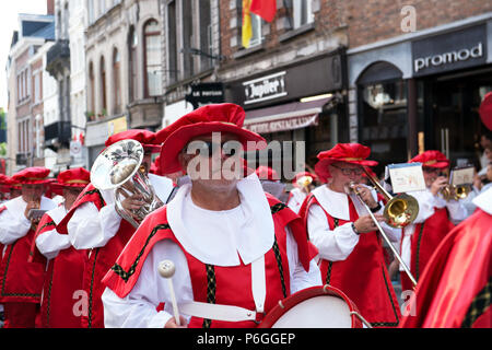
[[[105,149],[91,168],[91,183],[99,190],[114,189],[116,211],[136,229],[149,213],[164,205],[147,176],[143,153],[140,142],[121,140]],[[142,195],[144,205],[127,211],[122,201],[133,195]]]

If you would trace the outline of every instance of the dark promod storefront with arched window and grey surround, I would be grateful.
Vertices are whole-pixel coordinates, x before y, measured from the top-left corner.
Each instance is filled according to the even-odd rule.
[[[431,149],[476,163],[491,42],[485,14],[348,50],[351,141],[372,148],[377,171]]]

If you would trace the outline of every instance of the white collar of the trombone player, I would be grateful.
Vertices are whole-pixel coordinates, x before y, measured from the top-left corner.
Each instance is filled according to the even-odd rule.
[[[313,190],[313,195],[319,202],[323,209],[331,217],[341,219],[344,221],[350,220],[350,209],[349,209],[349,195],[337,192],[328,187],[328,185],[319,186]],[[372,195],[374,199],[377,200],[377,194],[373,189]],[[355,207],[355,211],[359,217],[368,214],[365,207],[360,202],[355,195],[350,195],[352,202]]]

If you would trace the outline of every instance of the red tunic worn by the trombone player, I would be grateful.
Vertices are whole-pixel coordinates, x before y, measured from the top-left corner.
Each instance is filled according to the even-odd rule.
[[[318,205],[323,209],[313,194],[306,198],[300,211],[306,228],[307,213],[312,205]],[[328,219],[330,230],[359,219],[350,197],[350,221],[332,218],[325,209],[323,210]],[[320,270],[323,281],[345,293],[373,327],[398,326],[401,313],[388,276],[377,232],[361,234],[358,245],[344,260],[321,259]]]

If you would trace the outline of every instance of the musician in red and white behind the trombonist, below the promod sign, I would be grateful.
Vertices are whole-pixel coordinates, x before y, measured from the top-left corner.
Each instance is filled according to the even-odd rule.
[[[412,191],[419,202],[417,219],[403,228],[401,237],[401,257],[410,267],[412,276],[419,280],[431,255],[444,236],[455,224],[468,217],[462,201],[446,200],[442,190],[449,185],[449,179],[443,172],[449,166],[449,160],[440,151],[429,150],[413,159],[410,163],[422,163],[426,189]],[[413,290],[413,284],[400,267],[401,289]]]

